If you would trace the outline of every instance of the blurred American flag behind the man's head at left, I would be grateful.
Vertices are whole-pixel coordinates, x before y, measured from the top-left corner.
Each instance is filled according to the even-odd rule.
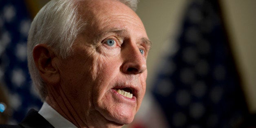
[[[24,0],[0,0],[0,86],[9,102],[7,124],[17,124],[30,108],[38,110],[42,105],[32,86],[26,62],[30,24]]]

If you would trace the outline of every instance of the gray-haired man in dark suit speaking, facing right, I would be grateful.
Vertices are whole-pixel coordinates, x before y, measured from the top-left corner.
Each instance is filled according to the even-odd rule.
[[[121,127],[146,90],[146,31],[136,0],[52,0],[36,15],[28,63],[44,104],[23,127]]]

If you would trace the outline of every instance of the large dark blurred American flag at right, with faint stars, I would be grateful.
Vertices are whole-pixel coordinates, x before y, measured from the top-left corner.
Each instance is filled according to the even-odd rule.
[[[248,110],[217,0],[193,0],[182,24],[152,90],[169,126],[239,128]]]

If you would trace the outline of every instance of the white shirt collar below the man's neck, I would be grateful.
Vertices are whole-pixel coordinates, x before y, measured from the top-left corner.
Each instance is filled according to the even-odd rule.
[[[42,115],[55,128],[77,128],[70,121],[62,117],[62,115],[60,115],[46,102],[44,102],[38,113]]]

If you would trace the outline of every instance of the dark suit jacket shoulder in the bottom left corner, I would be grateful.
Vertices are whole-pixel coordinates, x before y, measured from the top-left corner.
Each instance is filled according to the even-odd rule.
[[[0,124],[0,128],[54,128],[38,111],[31,109],[19,125]]]

